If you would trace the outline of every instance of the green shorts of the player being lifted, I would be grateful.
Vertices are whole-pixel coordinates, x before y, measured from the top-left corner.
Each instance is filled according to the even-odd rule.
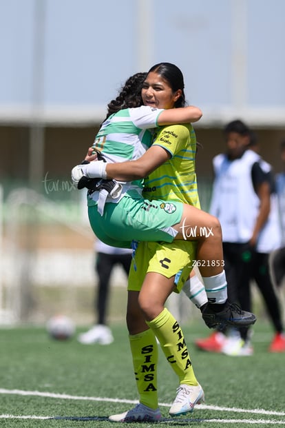
[[[97,205],[88,205],[94,234],[108,245],[127,248],[131,241],[172,242],[177,234],[172,226],[180,223],[183,211],[182,202],[148,201],[140,195],[105,203],[103,216]]]

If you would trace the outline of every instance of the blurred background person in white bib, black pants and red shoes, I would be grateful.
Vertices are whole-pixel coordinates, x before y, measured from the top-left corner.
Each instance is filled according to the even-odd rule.
[[[242,122],[224,128],[227,152],[213,159],[215,181],[210,211],[223,231],[229,299],[251,308],[251,281],[255,280],[271,319],[275,336],[269,351],[285,351],[282,312],[269,270],[269,255],[280,245],[277,198],[271,165],[257,154],[253,132]],[[227,334],[227,336],[226,336]],[[196,341],[205,351],[249,356],[253,348],[249,328],[220,329]]]

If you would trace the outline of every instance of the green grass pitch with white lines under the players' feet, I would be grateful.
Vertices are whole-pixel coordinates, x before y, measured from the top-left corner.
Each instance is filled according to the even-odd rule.
[[[1,328],[0,426],[114,427],[107,417],[131,408],[138,396],[125,323],[111,327],[115,340],[108,346],[81,345],[76,336],[65,342],[52,340],[44,327]],[[198,351],[194,340],[210,333],[200,320],[182,325],[182,329],[206,401],[193,414],[169,417],[178,385],[160,352],[158,388],[163,420],[156,426],[285,426],[285,355],[268,353],[273,332],[266,320],[257,320],[254,326],[251,357]],[[76,334],[81,331],[82,327]]]

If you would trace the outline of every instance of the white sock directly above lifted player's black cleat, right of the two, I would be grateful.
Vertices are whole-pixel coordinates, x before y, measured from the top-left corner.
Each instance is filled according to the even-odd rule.
[[[224,270],[215,276],[202,276],[209,303],[224,303],[228,298]]]

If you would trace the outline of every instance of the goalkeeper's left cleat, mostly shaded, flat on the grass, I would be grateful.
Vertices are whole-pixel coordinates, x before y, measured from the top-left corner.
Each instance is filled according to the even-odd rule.
[[[151,409],[140,403],[129,411],[109,416],[112,422],[158,422],[160,419],[160,409]]]

